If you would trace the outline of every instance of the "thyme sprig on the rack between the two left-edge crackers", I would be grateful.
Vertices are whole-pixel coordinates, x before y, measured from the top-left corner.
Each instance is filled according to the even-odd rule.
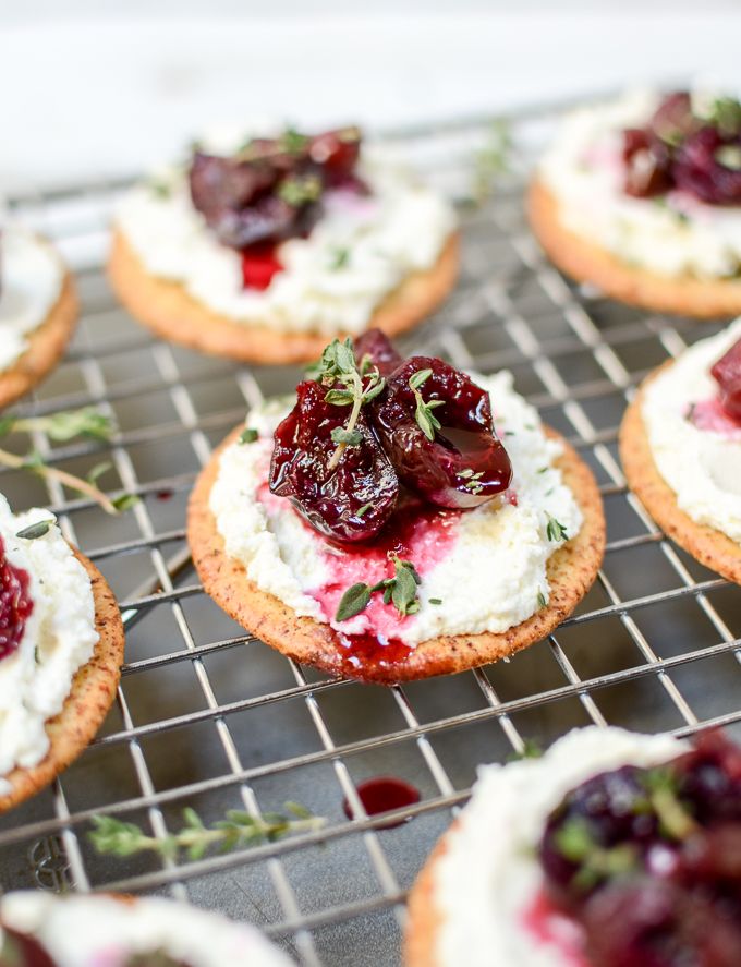
[[[9,433],[46,433],[56,442],[68,442],[77,436],[86,436],[92,439],[110,439],[114,426],[109,416],[96,410],[95,407],[85,407],[82,410],[66,410],[52,413],[49,416],[3,416],[0,418],[0,437]],[[121,494],[111,499],[97,485],[97,479],[110,469],[110,463],[99,463],[88,474],[86,480],[50,467],[44,462],[40,454],[33,450],[25,457],[11,454],[10,450],[0,448],[0,466],[11,470],[28,470],[47,480],[56,480],[78,494],[84,494],[98,504],[106,513],[118,515],[132,507],[137,500],[134,494]]]

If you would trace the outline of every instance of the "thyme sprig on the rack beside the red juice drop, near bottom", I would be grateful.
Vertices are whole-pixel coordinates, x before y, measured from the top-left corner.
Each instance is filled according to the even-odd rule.
[[[211,848],[228,853],[240,846],[271,843],[289,833],[312,833],[327,822],[297,802],[286,802],[284,809],[287,814],[266,812],[260,818],[241,809],[230,809],[226,819],[207,826],[195,809],[187,807],[183,810],[182,829],[163,838],[148,836],[136,823],[125,823],[111,815],[94,815],[95,829],[87,835],[100,854],[127,857],[156,853],[177,859],[182,851],[189,859],[196,860]]]

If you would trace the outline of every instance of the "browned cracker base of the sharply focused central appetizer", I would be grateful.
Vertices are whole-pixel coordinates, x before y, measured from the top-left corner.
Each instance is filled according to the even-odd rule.
[[[208,506],[219,470],[221,451],[242,427],[216,450],[191,495],[187,537],[193,563],[204,589],[230,617],[266,644],[306,665],[335,675],[390,685],[433,675],[463,672],[513,654],[540,641],[567,618],[594,582],[605,551],[605,517],[596,481],[588,467],[559,434],[546,430],[563,446],[556,461],[581,507],[581,531],[550,557],[547,566],[550,601],[527,620],[501,633],[445,634],[421,642],[402,662],[369,665],[360,673],[349,663],[350,653],[329,625],[299,617],[282,601],[247,578],[244,566],[224,552],[216,519]]]

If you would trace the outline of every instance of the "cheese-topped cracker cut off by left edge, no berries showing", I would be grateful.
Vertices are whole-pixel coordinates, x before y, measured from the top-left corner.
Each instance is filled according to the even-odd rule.
[[[0,407],[33,389],[64,354],[77,322],[61,256],[15,225],[0,232]]]

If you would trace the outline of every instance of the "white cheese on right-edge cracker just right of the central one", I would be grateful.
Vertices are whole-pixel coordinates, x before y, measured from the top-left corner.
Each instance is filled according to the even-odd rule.
[[[741,319],[685,350],[646,388],[643,422],[659,473],[697,523],[741,543],[741,434],[699,428],[693,404],[715,399],[710,367],[741,339]]]

